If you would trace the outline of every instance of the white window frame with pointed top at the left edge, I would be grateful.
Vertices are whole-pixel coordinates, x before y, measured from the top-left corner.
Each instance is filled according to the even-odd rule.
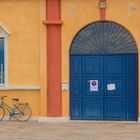
[[[0,84],[0,87],[8,87],[8,37],[10,32],[0,23],[2,32],[0,38],[4,39],[4,83]]]

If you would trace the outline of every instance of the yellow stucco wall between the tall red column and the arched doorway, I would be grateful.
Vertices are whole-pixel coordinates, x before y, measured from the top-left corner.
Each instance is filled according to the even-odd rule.
[[[97,0],[62,0],[62,81],[69,84],[69,49],[74,36],[87,24],[99,20]],[[69,91],[63,92],[63,116],[69,116]]]

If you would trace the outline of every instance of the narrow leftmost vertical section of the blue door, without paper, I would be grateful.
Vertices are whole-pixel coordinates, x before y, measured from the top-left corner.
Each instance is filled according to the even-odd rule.
[[[71,56],[70,114],[71,119],[81,119],[81,56]]]

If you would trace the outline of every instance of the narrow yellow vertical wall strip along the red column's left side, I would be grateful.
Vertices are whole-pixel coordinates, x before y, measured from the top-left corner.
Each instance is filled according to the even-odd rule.
[[[46,1],[40,0],[40,116],[47,115],[47,60],[46,60],[46,25],[42,20],[46,19]]]

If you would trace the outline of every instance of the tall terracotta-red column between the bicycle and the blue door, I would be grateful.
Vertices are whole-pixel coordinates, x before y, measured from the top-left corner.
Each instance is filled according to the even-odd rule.
[[[62,116],[61,0],[46,0],[47,116]]]

